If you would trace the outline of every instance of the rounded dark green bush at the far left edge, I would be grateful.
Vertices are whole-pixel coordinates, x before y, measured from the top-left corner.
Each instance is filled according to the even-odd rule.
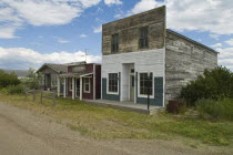
[[[0,89],[18,84],[20,84],[20,80],[13,72],[8,74],[0,70]]]

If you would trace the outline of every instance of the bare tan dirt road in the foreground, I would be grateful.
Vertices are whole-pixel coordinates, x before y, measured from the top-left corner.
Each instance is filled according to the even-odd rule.
[[[0,102],[1,155],[230,154],[224,147],[192,148],[175,141],[103,141],[81,136],[67,125]]]

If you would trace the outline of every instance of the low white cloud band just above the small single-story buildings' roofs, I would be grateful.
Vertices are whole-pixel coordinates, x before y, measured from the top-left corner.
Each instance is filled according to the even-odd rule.
[[[1,48],[0,46],[0,69],[38,69],[43,63],[69,63],[85,60],[85,53],[78,51],[69,53],[67,51],[42,54],[31,49],[24,48]],[[99,55],[87,55],[87,61],[101,62]]]

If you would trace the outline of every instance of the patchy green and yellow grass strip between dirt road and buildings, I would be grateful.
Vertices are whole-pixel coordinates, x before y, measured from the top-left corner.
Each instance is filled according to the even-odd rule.
[[[24,100],[23,95],[0,94],[0,101],[28,108],[65,122],[73,131],[94,138],[192,138],[210,145],[230,145],[233,141],[233,122],[194,118],[166,113],[144,115],[111,107],[89,105],[80,101],[58,99],[43,103]]]

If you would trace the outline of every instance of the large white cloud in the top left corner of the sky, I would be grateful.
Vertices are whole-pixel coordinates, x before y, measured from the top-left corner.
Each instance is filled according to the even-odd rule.
[[[70,23],[84,9],[101,0],[1,0],[0,38],[16,38],[16,31],[26,23],[58,25]]]

